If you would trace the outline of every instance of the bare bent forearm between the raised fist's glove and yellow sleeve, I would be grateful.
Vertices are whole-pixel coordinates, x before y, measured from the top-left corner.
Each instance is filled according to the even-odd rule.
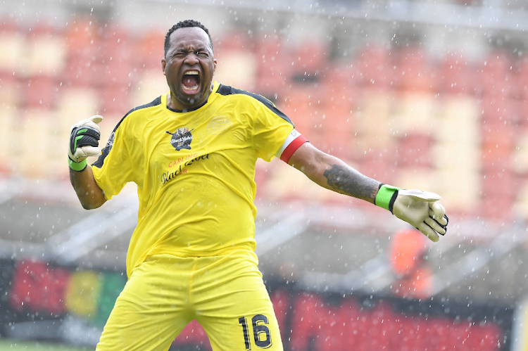
[[[85,210],[93,210],[106,203],[104,193],[95,181],[92,167],[87,166],[81,172],[70,169],[70,183]]]

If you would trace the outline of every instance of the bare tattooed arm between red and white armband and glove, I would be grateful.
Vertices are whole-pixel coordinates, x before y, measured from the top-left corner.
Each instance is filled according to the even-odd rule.
[[[345,162],[303,143],[288,161],[316,184],[337,193],[375,203],[379,181],[366,177]]]

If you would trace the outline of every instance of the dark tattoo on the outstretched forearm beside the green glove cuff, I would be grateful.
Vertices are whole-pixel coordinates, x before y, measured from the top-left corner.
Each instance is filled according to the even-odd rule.
[[[325,170],[323,175],[327,179],[327,184],[335,191],[374,203],[378,181],[365,177],[351,167],[341,165],[332,165],[332,168]]]

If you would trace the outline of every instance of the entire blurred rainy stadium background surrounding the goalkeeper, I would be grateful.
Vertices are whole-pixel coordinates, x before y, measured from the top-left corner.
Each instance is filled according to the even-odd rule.
[[[82,210],[69,128],[97,113],[106,140],[168,91],[163,39],[187,18],[209,28],[219,82],[270,98],[360,172],[440,193],[450,215],[429,245],[259,161],[257,253],[287,350],[528,350],[527,4],[2,1],[0,350],[94,348],[137,200],[127,186]],[[172,346],[209,348],[196,324]]]

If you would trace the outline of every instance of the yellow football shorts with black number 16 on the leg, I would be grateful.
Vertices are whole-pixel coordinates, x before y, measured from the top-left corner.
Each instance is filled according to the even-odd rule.
[[[134,269],[115,301],[97,351],[168,350],[190,321],[213,351],[282,350],[255,253],[153,255]]]

